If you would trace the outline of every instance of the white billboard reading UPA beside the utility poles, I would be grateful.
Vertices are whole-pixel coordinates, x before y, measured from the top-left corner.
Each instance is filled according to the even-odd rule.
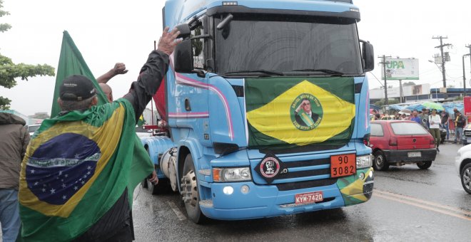
[[[418,59],[388,58],[385,68],[387,80],[419,80]],[[384,69],[381,70],[384,79]]]

